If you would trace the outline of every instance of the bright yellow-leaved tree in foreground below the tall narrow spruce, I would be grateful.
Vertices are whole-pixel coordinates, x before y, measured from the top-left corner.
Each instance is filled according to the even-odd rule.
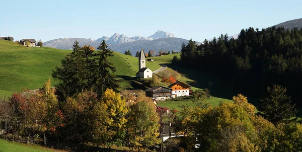
[[[125,115],[128,113],[125,100],[122,100],[119,93],[107,89],[103,94],[100,103],[93,108],[93,138],[97,145],[104,144],[109,147],[111,144],[120,144],[121,131],[127,122]]]

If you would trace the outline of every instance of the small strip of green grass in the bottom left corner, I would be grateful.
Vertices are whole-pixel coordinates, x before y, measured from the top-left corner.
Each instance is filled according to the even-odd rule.
[[[12,142],[5,139],[0,139],[0,152],[6,151],[24,151],[24,152],[35,152],[35,151],[59,151],[51,148],[42,147],[39,145],[24,144],[19,142]]]

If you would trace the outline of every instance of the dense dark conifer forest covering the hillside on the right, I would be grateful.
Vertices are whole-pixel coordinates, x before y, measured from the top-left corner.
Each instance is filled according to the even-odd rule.
[[[201,45],[191,39],[183,43],[180,60],[232,81],[241,92],[259,96],[266,86],[278,84],[298,101],[302,97],[301,44],[301,29],[272,27],[260,31],[250,27],[241,30],[237,39],[221,34],[210,41],[205,39]]]

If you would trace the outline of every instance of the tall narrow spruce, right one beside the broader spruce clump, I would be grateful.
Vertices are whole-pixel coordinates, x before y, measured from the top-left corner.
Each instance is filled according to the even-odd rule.
[[[102,97],[106,89],[112,89],[117,91],[119,84],[115,79],[114,72],[116,68],[113,67],[113,63],[109,61],[109,57],[113,56],[113,52],[108,48],[105,40],[98,47],[99,53],[97,56],[98,69],[97,69],[97,85],[94,87],[94,91],[97,96]]]

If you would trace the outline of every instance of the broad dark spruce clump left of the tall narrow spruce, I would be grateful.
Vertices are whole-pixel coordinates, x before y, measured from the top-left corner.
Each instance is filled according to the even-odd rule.
[[[53,70],[52,77],[59,80],[56,85],[62,100],[66,97],[78,95],[83,90],[90,90],[96,83],[94,50],[79,45],[78,41],[73,44],[73,49],[64,60],[61,67]]]

